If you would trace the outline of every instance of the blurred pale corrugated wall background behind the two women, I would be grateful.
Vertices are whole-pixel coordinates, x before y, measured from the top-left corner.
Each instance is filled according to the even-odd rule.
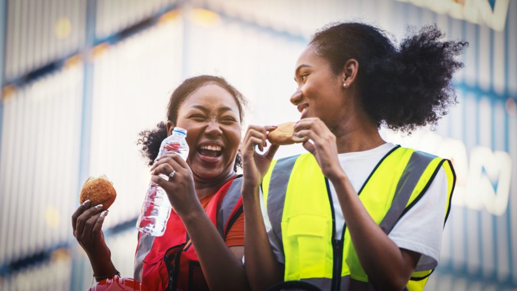
[[[470,43],[459,104],[404,146],[457,172],[439,267],[426,290],[517,286],[517,1],[0,0],[0,290],[85,290],[89,261],[71,215],[88,176],[118,199],[104,223],[132,277],[149,181],[138,133],[165,120],[184,79],[220,75],[250,100],[246,124],[297,120],[294,65],[318,28],[359,20],[400,41],[436,24]],[[245,128],[245,127],[243,127]],[[282,147],[277,157],[303,152]]]

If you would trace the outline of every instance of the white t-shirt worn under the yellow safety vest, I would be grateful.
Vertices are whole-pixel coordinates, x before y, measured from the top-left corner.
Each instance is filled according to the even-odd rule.
[[[393,149],[393,147],[395,147],[393,143],[385,143],[382,146],[368,151],[338,155],[341,167],[356,192],[360,190],[368,176],[370,176],[373,168],[381,161],[381,158]],[[336,190],[334,190],[334,186],[331,182],[329,185],[334,205],[334,220],[336,220],[336,237],[334,238],[341,239],[345,221]],[[278,261],[284,264],[285,258],[278,247],[279,240],[272,231],[271,223],[269,222],[269,217],[267,216],[267,211],[264,206],[264,195],[262,191],[260,195],[262,215],[264,217],[264,224],[271,248]],[[446,203],[447,176],[445,170],[441,168],[427,192],[402,216],[388,235],[399,248],[422,254],[415,269],[416,271],[433,269],[438,264],[440,246],[442,245]]]

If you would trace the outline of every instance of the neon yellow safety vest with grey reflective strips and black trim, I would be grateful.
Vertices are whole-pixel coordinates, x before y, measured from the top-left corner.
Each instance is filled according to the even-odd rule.
[[[450,162],[412,149],[396,147],[386,154],[364,182],[359,198],[372,219],[389,234],[425,194],[440,167],[448,178],[446,219],[455,179]],[[284,280],[317,281],[323,289],[330,289],[332,284],[336,290],[348,290],[350,284],[369,288],[346,225],[343,238],[333,241],[335,222],[327,183],[312,154],[279,159],[264,177],[265,206],[285,255]],[[342,266],[333,260],[341,246]],[[421,290],[435,266],[425,267],[416,270],[407,284],[410,290]]]

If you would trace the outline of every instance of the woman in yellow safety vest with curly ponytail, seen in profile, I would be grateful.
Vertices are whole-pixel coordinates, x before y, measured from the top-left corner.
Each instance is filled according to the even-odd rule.
[[[300,54],[291,103],[309,152],[272,161],[274,126],[242,142],[245,269],[252,289],[422,290],[436,267],[451,162],[388,143],[379,126],[434,125],[456,102],[465,42],[424,27],[396,48],[364,23],[324,27]]]

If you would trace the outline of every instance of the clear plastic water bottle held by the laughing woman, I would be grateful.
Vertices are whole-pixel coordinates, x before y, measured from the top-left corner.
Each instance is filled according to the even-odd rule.
[[[160,152],[155,159],[168,153],[179,154],[184,160],[187,160],[189,155],[189,146],[187,144],[187,130],[181,127],[174,127],[172,135],[165,138],[160,146]],[[169,180],[169,176],[160,174],[160,176]],[[149,183],[147,188],[147,195],[145,196],[142,205],[142,211],[136,222],[136,228],[144,234],[161,237],[165,233],[167,221],[171,215],[171,202],[167,193],[162,187],[155,184],[153,181]]]

